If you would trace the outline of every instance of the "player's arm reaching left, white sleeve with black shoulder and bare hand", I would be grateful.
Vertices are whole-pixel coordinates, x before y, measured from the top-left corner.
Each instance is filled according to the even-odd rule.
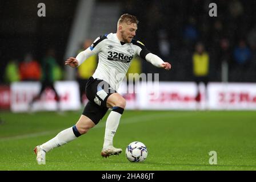
[[[98,37],[94,40],[93,44],[90,47],[85,49],[85,51],[78,53],[77,57],[69,57],[69,59],[65,61],[65,65],[70,65],[70,67],[73,68],[79,67],[79,65],[81,65],[83,61],[101,51],[102,40],[104,39],[107,39],[105,35]]]

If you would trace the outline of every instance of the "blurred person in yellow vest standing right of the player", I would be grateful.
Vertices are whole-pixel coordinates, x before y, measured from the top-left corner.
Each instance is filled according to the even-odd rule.
[[[195,100],[201,102],[201,93],[199,90],[199,83],[203,82],[207,91],[207,84],[209,81],[209,54],[205,51],[205,47],[202,43],[197,43],[195,45],[195,52],[192,57],[193,59],[193,75],[194,80],[197,84],[197,96]],[[207,99],[207,93],[205,93],[205,98]]]

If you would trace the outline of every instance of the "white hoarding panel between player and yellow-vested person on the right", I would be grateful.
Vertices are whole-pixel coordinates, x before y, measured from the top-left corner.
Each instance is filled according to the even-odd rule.
[[[195,109],[196,87],[193,82],[159,82],[137,84],[140,109]]]

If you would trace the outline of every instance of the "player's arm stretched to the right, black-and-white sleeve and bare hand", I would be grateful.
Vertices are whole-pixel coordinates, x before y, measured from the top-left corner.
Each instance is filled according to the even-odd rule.
[[[171,64],[170,63],[163,61],[160,57],[158,57],[157,55],[148,51],[144,44],[142,44],[141,42],[139,42],[135,39],[133,40],[132,43],[134,45],[138,46],[137,47],[138,48],[137,53],[140,57],[142,57],[143,59],[145,59],[149,63],[153,64],[155,67],[163,68],[163,69],[166,69],[166,70],[171,69]]]

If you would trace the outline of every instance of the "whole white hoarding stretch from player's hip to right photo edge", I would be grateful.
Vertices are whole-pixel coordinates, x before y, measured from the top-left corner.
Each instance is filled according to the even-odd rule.
[[[125,84],[118,90],[127,100],[126,109],[256,110],[254,83],[210,82],[207,92],[201,83],[201,102],[195,101],[197,86],[194,82],[137,82],[135,93],[127,93],[126,90]]]

